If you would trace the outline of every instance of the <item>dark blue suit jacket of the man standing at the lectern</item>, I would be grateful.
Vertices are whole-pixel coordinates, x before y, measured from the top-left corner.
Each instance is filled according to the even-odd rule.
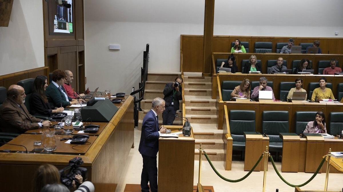
[[[158,122],[152,110],[146,113],[142,124],[141,141],[138,151],[142,155],[156,157],[158,152]]]

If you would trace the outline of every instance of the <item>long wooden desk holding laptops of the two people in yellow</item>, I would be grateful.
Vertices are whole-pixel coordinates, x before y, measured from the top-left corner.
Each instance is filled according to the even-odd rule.
[[[343,103],[316,103],[316,102],[242,102],[225,101],[218,102],[218,129],[222,129],[225,119],[223,118],[224,106],[227,107],[228,119],[230,110],[253,110],[255,111],[256,131],[262,133],[262,113],[263,111],[288,111],[289,133],[295,133],[295,113],[297,111],[323,111],[326,116],[327,130],[330,129],[330,112],[342,112]],[[313,117],[315,119],[315,117]]]

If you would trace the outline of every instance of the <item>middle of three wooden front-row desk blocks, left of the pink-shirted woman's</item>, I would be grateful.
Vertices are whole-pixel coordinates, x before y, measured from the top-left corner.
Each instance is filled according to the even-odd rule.
[[[295,133],[280,133],[282,139],[281,172],[299,171],[300,137]]]

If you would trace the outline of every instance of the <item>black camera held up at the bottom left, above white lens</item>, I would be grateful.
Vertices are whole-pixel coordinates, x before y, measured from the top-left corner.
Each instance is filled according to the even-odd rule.
[[[87,180],[87,169],[84,167],[80,167],[83,161],[81,157],[74,157],[72,160],[69,161],[69,165],[64,167],[63,169],[59,170],[61,175],[61,183],[71,188],[73,185],[73,180],[75,180],[75,184],[78,186],[78,180],[75,179],[75,175],[80,174],[83,178],[83,181]]]

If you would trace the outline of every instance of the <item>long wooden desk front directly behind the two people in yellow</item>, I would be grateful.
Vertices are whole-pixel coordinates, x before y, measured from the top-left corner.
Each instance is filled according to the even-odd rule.
[[[217,82],[217,76],[219,82]],[[343,83],[343,75],[298,75],[298,74],[237,74],[237,73],[217,73],[212,76],[212,99],[217,99],[218,95],[218,83],[222,85],[223,81],[243,81],[249,79],[250,81],[259,81],[261,77],[266,77],[268,82],[273,82],[273,92],[276,99],[280,99],[280,83],[281,82],[294,82],[295,79],[301,78],[303,80],[303,88],[309,92],[308,84],[310,82],[319,83],[321,77],[325,77],[328,83],[332,83],[332,93],[337,97],[339,83]],[[253,89],[253,87],[252,87]],[[221,90],[220,90],[221,91]]]

